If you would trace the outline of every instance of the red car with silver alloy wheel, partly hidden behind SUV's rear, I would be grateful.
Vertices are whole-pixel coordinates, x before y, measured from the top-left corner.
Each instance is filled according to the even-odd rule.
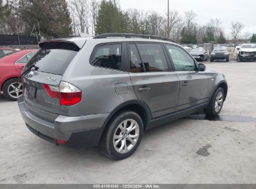
[[[12,101],[22,94],[19,76],[37,50],[20,50],[0,55],[0,93]]]

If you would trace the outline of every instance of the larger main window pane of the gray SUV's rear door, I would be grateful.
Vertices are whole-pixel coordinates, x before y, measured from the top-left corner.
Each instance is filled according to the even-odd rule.
[[[146,71],[168,71],[168,65],[161,44],[138,44]]]

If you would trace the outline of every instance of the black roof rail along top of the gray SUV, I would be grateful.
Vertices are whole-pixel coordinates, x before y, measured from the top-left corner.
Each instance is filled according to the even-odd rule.
[[[93,37],[93,39],[103,39],[107,37],[125,37],[125,38],[145,38],[145,39],[158,39],[158,40],[167,40],[169,42],[174,42],[174,40],[171,40],[167,37],[159,37],[156,35],[144,35],[144,34],[121,34],[121,33],[109,33],[109,34],[100,34]]]

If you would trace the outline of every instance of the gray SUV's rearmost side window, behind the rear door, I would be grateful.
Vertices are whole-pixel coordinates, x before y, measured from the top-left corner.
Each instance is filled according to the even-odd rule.
[[[101,45],[93,53],[91,64],[97,67],[120,70],[121,44]]]

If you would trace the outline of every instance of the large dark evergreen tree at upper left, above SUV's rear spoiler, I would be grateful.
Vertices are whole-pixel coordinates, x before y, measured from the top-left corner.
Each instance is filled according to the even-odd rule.
[[[21,0],[20,12],[26,22],[26,33],[39,24],[40,34],[45,38],[72,34],[71,19],[65,0]],[[36,27],[37,32],[38,27]]]

